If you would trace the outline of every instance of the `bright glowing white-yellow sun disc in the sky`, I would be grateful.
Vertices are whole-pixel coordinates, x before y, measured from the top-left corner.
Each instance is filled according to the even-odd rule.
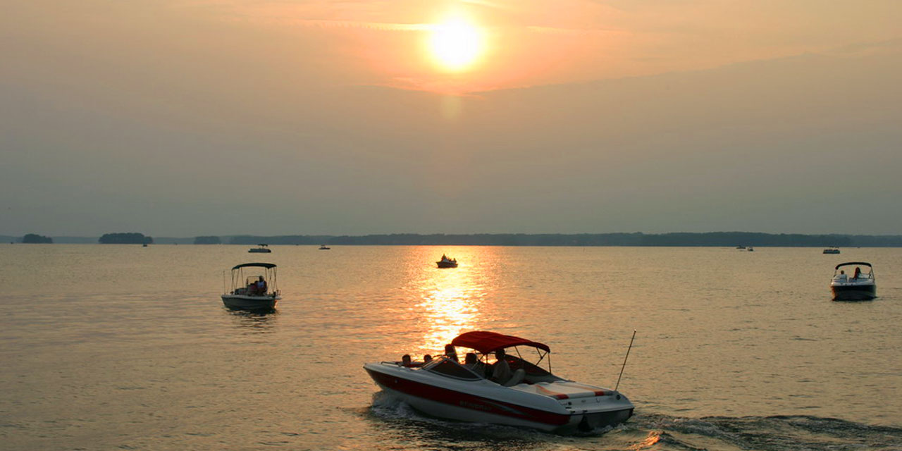
[[[433,58],[443,68],[463,70],[479,58],[483,37],[472,23],[452,19],[432,26],[429,44]]]

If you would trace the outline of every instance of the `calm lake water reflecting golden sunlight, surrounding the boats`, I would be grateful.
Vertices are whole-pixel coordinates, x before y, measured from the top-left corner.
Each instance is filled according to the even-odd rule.
[[[902,449],[902,250],[0,245],[3,449]],[[461,265],[435,268],[442,253]],[[879,299],[830,300],[837,262]],[[269,315],[223,271],[279,264]],[[558,437],[424,417],[364,362],[488,329],[637,406]]]

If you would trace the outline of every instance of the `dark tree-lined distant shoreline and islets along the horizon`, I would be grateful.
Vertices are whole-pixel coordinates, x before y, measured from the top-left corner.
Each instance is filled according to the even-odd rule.
[[[209,235],[213,236],[213,235]],[[207,237],[209,237],[207,236]],[[56,244],[97,244],[99,237],[52,236]],[[198,237],[153,237],[154,244],[195,244]],[[222,244],[255,245],[483,245],[483,246],[677,246],[677,247],[902,247],[902,235],[805,235],[755,232],[615,234],[386,234],[219,235]],[[0,235],[2,243],[22,236]],[[197,244],[215,245],[215,244]]]

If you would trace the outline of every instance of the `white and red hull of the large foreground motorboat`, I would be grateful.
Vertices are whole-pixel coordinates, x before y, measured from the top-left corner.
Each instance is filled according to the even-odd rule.
[[[569,434],[622,423],[630,418],[633,410],[632,404],[625,398],[621,402],[622,408],[606,411],[567,410],[556,400],[550,399],[544,403],[548,409],[537,409],[498,398],[480,396],[475,392],[452,390],[414,381],[397,373],[383,373],[379,371],[377,364],[367,364],[364,369],[383,391],[407,402],[416,410],[443,419],[502,424]],[[616,396],[618,400],[621,399],[621,395]]]

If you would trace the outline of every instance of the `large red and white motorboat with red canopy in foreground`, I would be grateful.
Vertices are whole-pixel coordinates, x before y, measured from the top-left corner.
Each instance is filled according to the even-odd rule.
[[[460,364],[452,347],[453,354],[446,348],[446,355],[428,363],[408,363],[409,359],[405,359],[364,364],[364,369],[382,391],[416,410],[443,419],[567,434],[613,426],[632,415],[634,406],[619,391],[552,374],[548,345],[518,336],[475,331],[457,336],[450,346],[474,350],[472,358],[467,354],[471,363]],[[527,354],[535,351],[538,360],[525,360],[520,348],[524,353],[529,351]],[[548,370],[539,366],[543,360]],[[503,373],[496,368],[504,363],[511,372],[507,381],[494,377]]]

